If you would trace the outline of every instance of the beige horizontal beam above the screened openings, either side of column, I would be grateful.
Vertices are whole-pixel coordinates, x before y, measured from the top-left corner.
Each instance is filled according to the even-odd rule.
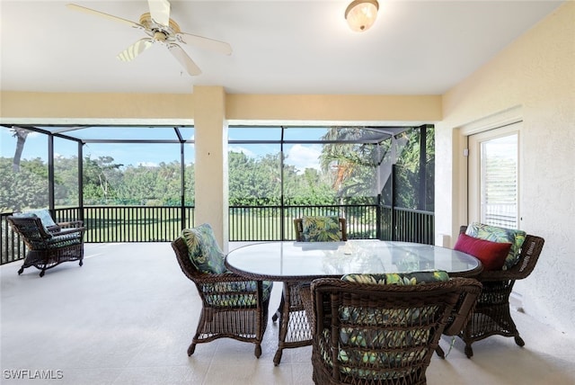
[[[204,87],[199,87],[204,88]],[[208,87],[209,88],[209,87]],[[220,87],[215,87],[220,88]],[[0,93],[3,122],[30,121],[183,121],[196,105],[190,94]],[[204,107],[205,107],[204,102]],[[441,119],[440,95],[226,94],[227,121],[414,121]],[[208,108],[208,111],[213,111]],[[221,116],[220,116],[221,118]]]

